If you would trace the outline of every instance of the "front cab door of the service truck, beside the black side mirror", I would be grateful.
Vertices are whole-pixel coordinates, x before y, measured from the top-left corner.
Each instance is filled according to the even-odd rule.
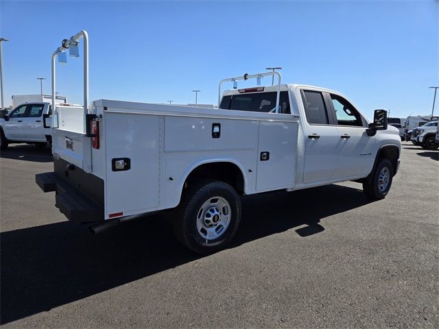
[[[375,160],[375,138],[366,134],[366,120],[340,95],[329,94],[339,134],[338,163],[333,178],[368,175]]]

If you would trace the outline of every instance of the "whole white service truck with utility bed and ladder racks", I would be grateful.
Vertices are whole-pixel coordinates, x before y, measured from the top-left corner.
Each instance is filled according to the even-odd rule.
[[[221,93],[222,82],[267,75],[278,77],[277,86]],[[222,82],[218,109],[107,99],[85,109],[58,106],[54,171],[36,175],[36,183],[56,192],[69,220],[91,222],[95,232],[175,209],[176,236],[199,253],[233,239],[242,195],[347,180],[373,199],[388,194],[401,141],[384,110],[368,123],[340,93],[281,84],[277,72]]]

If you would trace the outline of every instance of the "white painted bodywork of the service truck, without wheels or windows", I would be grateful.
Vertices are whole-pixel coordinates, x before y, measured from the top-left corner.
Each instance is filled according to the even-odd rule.
[[[380,147],[401,147],[394,127],[370,137],[365,127],[311,125],[300,119],[305,118],[303,88],[336,93],[283,85],[292,114],[94,101],[90,112],[99,118],[99,149],[91,147],[84,132],[83,108],[58,107],[54,155],[104,181],[104,219],[110,219],[178,206],[185,181],[202,164],[235,164],[246,194],[293,191],[365,178]],[[213,138],[215,124],[220,138]],[[321,138],[308,138],[312,134]],[[344,134],[351,137],[341,138]],[[73,143],[69,149],[67,142]],[[265,151],[270,160],[261,161]],[[130,170],[113,171],[116,158],[129,158]]]

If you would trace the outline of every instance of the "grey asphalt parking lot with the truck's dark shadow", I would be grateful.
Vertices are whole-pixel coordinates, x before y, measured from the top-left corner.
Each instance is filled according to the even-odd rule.
[[[243,199],[233,245],[188,252],[156,215],[93,236],[1,154],[1,324],[14,328],[438,328],[439,152],[403,143],[390,194],[349,182]]]

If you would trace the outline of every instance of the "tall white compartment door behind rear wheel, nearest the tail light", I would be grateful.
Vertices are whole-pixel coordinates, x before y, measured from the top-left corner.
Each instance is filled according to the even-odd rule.
[[[155,210],[160,193],[160,117],[106,112],[104,122],[106,218]],[[115,170],[113,162],[121,158],[130,162],[129,168]]]

